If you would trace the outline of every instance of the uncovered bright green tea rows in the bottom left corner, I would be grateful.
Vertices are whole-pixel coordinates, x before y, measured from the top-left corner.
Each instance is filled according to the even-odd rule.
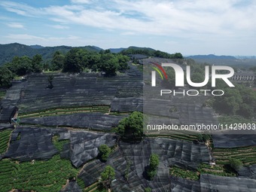
[[[79,171],[69,160],[60,159],[59,154],[47,161],[14,163],[2,160],[0,170],[2,191],[14,188],[40,192],[59,191],[67,179],[75,178]]]

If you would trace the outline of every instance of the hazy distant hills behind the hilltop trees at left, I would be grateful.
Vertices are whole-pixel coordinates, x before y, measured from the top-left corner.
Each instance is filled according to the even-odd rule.
[[[40,45],[28,46],[25,44],[0,44],[0,66],[6,62],[11,62],[14,56],[35,56],[35,54],[40,54],[43,59],[52,59],[53,54],[56,50],[59,50],[62,53],[67,53],[73,47],[69,46],[56,46],[56,47],[41,47]],[[85,46],[79,47],[86,50],[92,50],[99,52],[102,50],[99,47],[94,46]]]

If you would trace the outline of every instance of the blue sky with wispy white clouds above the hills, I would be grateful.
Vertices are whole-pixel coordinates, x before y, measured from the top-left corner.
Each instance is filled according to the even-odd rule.
[[[0,1],[0,44],[256,55],[254,0]]]

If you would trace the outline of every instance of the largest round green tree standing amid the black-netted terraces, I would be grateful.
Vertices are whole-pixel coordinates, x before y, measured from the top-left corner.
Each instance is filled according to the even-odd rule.
[[[134,111],[129,117],[120,120],[117,133],[126,139],[142,139],[143,136],[143,114]]]

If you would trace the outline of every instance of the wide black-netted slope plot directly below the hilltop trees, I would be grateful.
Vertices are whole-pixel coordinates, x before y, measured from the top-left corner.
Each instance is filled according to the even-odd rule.
[[[123,77],[102,78],[96,75],[54,75],[53,88],[47,86],[47,75],[30,75],[19,102],[21,114],[50,108],[110,106],[120,90],[142,89],[141,79]],[[119,92],[118,92],[119,91]],[[131,97],[132,93],[130,93]]]

